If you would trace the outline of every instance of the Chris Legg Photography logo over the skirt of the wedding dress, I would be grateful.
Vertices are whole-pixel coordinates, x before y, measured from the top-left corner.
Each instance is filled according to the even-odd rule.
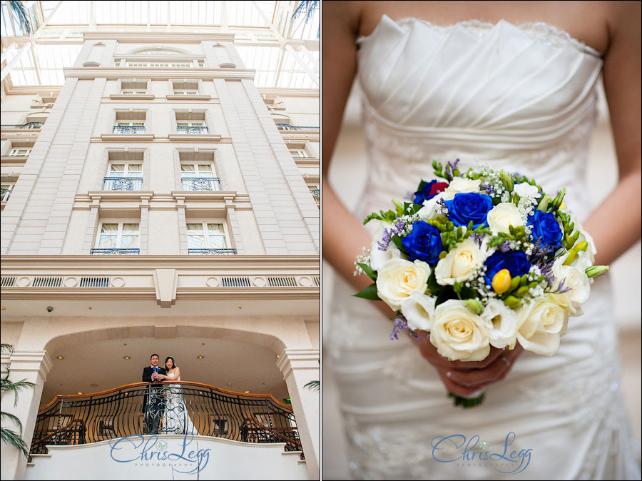
[[[430,442],[432,458],[439,462],[456,462],[457,466],[462,467],[489,466],[506,475],[516,475],[529,466],[532,449],[509,452],[515,437],[513,431],[509,432],[504,445],[499,446],[498,450],[488,441],[480,441],[478,435],[470,439],[461,434],[435,436]]]

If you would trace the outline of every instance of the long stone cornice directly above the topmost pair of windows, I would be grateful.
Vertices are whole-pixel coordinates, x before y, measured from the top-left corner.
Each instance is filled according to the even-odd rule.
[[[63,69],[65,79],[138,79],[169,80],[179,76],[181,79],[242,80],[254,79],[255,71],[251,69],[148,69],[147,67],[81,67]]]

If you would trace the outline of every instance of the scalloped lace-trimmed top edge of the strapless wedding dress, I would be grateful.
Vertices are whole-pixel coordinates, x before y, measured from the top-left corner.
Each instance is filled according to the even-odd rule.
[[[381,17],[381,20],[379,20],[379,23],[377,24],[377,26],[374,27],[374,30],[369,35],[362,35],[357,38],[357,44],[361,44],[364,41],[368,41],[373,36],[375,36],[377,33],[377,30],[379,30],[379,26],[381,26],[381,24],[384,22],[384,19],[388,19],[389,21],[392,21],[394,24],[397,24],[399,26],[404,26],[412,23],[424,24],[426,26],[429,26],[431,29],[434,29],[437,31],[449,31],[451,29],[454,29],[457,26],[461,26],[464,29],[467,29],[469,31],[475,31],[475,30],[489,31],[501,24],[509,24],[511,26],[516,27],[517,29],[529,32],[530,34],[533,34],[541,41],[545,41],[549,44],[553,39],[555,39],[556,41],[559,41],[561,43],[574,46],[576,49],[578,49],[584,54],[596,56],[600,59],[602,58],[602,54],[600,54],[596,49],[593,49],[593,47],[586,45],[583,41],[576,39],[574,36],[569,34],[569,32],[567,32],[566,30],[560,29],[559,27],[556,27],[551,24],[547,24],[546,22],[543,22],[543,21],[524,22],[521,24],[514,24],[513,22],[505,19],[500,19],[496,23],[481,21],[477,19],[470,19],[470,20],[456,21],[452,24],[447,24],[447,25],[438,25],[438,24],[434,24],[432,21],[418,19],[417,17],[412,17],[412,16],[404,17],[403,19],[399,19],[399,20],[393,20],[386,14],[383,14]]]

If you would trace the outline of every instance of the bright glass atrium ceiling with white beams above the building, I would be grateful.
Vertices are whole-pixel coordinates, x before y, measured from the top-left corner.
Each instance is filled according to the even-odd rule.
[[[31,19],[24,36],[9,2],[1,2],[2,67],[31,47],[10,69],[11,86],[61,86],[91,31],[224,31],[258,87],[318,88],[320,13],[292,18],[300,1],[23,1]],[[9,48],[11,44],[14,47]],[[300,51],[285,44],[302,46]]]

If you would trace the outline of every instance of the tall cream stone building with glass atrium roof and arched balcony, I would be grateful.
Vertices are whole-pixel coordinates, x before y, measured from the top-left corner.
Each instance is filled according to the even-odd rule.
[[[2,478],[318,479],[318,40],[294,1],[124,3],[31,2],[30,36],[3,4],[2,365],[35,388]],[[153,353],[155,449],[180,396],[207,466],[110,451],[155,432]]]

